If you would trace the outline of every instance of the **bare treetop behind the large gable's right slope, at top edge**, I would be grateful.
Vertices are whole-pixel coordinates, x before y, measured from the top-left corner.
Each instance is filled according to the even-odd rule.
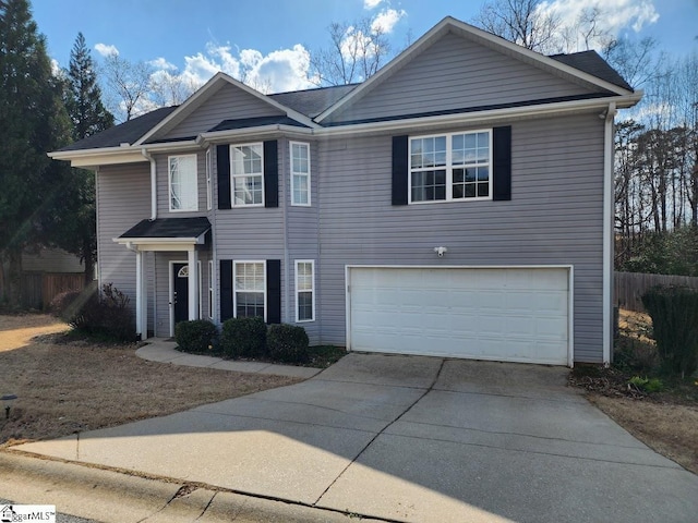
[[[562,21],[540,0],[491,0],[474,16],[473,23],[533,51],[561,52]]]

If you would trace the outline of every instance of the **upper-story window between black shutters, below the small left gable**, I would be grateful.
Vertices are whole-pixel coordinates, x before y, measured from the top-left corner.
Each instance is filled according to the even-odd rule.
[[[232,205],[264,205],[264,147],[262,143],[230,146]]]

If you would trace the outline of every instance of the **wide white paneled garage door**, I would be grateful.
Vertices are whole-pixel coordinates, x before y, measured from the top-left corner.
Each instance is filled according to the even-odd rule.
[[[568,268],[349,267],[352,351],[569,364]]]

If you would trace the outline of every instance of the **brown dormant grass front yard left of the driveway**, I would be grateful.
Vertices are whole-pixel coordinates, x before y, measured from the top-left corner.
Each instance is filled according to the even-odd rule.
[[[0,447],[161,416],[301,381],[270,375],[148,362],[136,345],[59,343],[67,330],[45,315],[0,316]]]

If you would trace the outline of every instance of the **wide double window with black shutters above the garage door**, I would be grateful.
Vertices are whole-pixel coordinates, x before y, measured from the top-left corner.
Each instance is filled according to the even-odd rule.
[[[492,199],[490,130],[410,138],[410,203]]]

